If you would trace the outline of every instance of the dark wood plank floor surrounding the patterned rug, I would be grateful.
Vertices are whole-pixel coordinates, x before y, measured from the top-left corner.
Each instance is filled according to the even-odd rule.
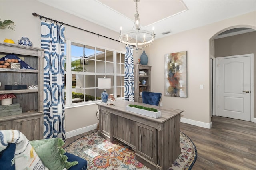
[[[256,123],[213,116],[211,129],[181,123],[180,131],[196,145],[192,170],[256,170]],[[89,133],[68,138],[64,147]]]

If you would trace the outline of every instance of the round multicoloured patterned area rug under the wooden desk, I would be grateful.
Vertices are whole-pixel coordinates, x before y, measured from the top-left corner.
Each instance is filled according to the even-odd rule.
[[[196,146],[180,132],[181,154],[168,170],[190,170],[196,161]],[[149,170],[135,159],[135,152],[118,140],[108,142],[97,132],[83,136],[66,148],[66,152],[88,161],[89,170]]]

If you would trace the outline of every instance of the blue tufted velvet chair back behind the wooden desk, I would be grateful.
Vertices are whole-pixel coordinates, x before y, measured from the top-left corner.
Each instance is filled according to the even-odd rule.
[[[150,105],[159,105],[162,93],[142,91],[142,103]]]

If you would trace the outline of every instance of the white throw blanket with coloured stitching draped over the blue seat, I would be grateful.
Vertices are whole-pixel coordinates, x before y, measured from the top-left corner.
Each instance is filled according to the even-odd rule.
[[[16,144],[14,158],[10,162],[12,166],[15,163],[15,170],[48,170],[20,131],[0,130],[0,151],[6,149],[9,143]]]

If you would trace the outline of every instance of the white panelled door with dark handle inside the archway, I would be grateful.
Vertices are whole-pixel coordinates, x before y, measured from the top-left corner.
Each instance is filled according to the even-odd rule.
[[[218,59],[218,115],[250,121],[250,56]]]

